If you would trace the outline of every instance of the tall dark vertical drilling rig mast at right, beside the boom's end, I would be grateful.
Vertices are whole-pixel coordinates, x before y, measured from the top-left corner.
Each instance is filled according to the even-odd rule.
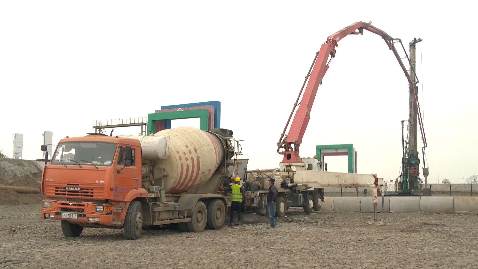
[[[410,78],[412,78],[412,84],[408,85],[409,88],[409,134],[410,134],[410,144],[409,144],[409,164],[408,164],[408,183],[410,190],[418,190],[419,184],[417,178],[420,176],[420,159],[418,158],[417,151],[417,107],[415,99],[418,98],[418,89],[416,86],[415,79],[415,44],[421,42],[422,39],[414,38],[412,42],[409,43],[408,47],[410,50]],[[426,184],[426,182],[425,182]]]

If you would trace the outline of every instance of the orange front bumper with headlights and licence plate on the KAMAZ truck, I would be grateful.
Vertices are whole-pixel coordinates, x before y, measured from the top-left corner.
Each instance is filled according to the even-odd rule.
[[[43,208],[43,202],[50,202],[50,208]],[[122,210],[113,210],[112,204],[93,202],[72,202],[43,199],[42,219],[65,220],[80,226],[122,226]],[[109,208],[107,213],[96,212],[96,206]],[[118,220],[121,222],[118,222]]]

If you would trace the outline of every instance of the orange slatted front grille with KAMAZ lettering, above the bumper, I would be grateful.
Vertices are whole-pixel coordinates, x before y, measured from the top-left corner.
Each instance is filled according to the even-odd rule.
[[[73,188],[72,188],[73,187]],[[99,188],[98,188],[99,187]],[[71,198],[103,198],[103,185],[51,182],[46,186],[46,196]]]

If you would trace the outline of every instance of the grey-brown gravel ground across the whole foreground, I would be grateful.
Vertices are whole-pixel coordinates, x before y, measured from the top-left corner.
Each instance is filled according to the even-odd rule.
[[[85,228],[65,238],[39,205],[0,206],[0,268],[478,268],[477,215],[288,211],[275,229],[247,214],[241,226],[182,233],[174,226],[126,240]]]

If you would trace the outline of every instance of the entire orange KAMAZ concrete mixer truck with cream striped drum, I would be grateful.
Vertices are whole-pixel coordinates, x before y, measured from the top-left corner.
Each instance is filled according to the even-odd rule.
[[[124,228],[128,239],[143,226],[220,229],[228,201],[218,190],[230,182],[231,135],[179,127],[150,136],[66,137],[43,168],[42,218],[60,220],[73,237],[84,227]]]

